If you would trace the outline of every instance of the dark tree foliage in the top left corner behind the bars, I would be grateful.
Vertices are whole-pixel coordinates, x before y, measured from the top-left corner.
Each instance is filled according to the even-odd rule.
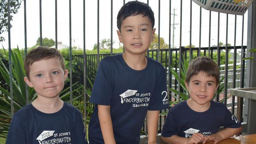
[[[21,0],[10,0],[10,20],[18,12]],[[8,4],[7,0],[0,0],[0,42],[5,41],[2,33],[8,30]]]

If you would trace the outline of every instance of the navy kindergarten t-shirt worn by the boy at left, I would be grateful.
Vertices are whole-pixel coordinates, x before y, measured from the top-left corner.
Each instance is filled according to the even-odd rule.
[[[56,113],[30,103],[13,115],[6,144],[88,144],[81,112],[68,103]]]

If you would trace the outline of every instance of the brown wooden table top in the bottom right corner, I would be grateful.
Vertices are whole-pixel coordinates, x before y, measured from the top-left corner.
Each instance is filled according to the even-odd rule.
[[[214,141],[208,141],[205,144],[214,144]],[[256,134],[227,138],[217,144],[256,144]]]

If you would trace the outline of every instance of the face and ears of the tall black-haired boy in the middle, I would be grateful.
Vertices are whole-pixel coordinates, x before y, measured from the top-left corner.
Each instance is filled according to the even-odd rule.
[[[125,52],[143,54],[154,40],[155,31],[155,28],[152,30],[147,16],[135,15],[122,21],[121,32],[117,30],[117,35],[124,45]]]

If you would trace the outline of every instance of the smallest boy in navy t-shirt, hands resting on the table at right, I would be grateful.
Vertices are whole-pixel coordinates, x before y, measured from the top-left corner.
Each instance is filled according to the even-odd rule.
[[[208,57],[197,57],[189,63],[186,88],[190,98],[171,107],[162,139],[171,144],[214,144],[241,131],[241,123],[226,105],[212,101],[219,86],[219,67]],[[223,126],[225,129],[218,131]]]

